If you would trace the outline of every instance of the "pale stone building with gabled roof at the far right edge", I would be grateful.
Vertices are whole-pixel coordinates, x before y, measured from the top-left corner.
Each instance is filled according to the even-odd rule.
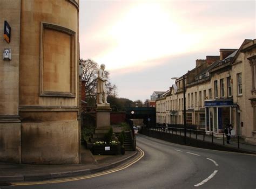
[[[246,141],[256,144],[256,39],[246,39],[232,61],[235,128]]]

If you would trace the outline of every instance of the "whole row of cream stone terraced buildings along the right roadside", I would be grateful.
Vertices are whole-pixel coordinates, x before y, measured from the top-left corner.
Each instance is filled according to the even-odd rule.
[[[185,76],[186,123],[197,129],[233,134],[249,142],[256,135],[256,40],[246,39],[237,49],[220,49],[218,56],[196,60]],[[183,124],[183,76],[156,100],[157,123]],[[254,137],[254,138],[253,138]]]

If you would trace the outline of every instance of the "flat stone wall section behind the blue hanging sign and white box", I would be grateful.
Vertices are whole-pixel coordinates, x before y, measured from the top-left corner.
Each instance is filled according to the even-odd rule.
[[[18,117],[19,31],[21,0],[0,1],[0,160],[19,163],[21,123]],[[11,40],[4,38],[4,21],[11,27]],[[11,60],[3,60],[4,48],[11,49]]]

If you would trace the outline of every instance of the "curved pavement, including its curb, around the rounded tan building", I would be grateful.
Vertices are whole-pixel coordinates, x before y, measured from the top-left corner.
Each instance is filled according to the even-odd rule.
[[[39,181],[65,177],[84,176],[101,172],[129,161],[136,157],[137,151],[127,151],[125,155],[92,155],[89,150],[82,150],[82,163],[69,165],[30,165],[0,162],[0,186],[14,181]]]

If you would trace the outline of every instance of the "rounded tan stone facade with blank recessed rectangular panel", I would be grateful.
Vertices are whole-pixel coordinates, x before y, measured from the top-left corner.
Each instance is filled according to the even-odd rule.
[[[79,163],[79,2],[21,0],[19,6],[16,109],[21,123],[15,137],[21,145],[14,162]]]

